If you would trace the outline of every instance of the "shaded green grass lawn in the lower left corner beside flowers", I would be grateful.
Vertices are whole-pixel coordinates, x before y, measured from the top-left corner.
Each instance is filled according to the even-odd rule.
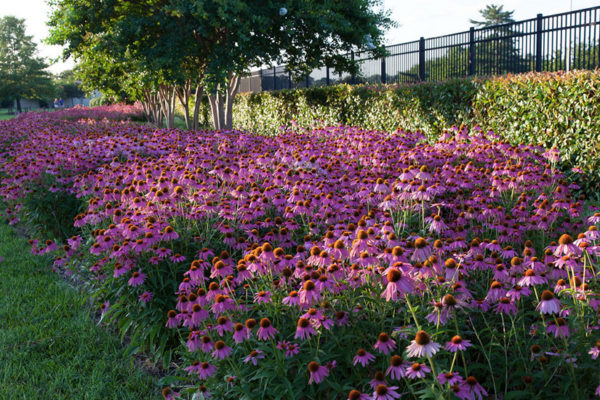
[[[81,295],[0,220],[0,399],[162,398]]]

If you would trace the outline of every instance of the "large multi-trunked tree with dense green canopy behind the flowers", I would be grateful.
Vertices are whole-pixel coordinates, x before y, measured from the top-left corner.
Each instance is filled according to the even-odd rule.
[[[384,54],[387,13],[379,0],[54,0],[50,41],[65,57],[102,51],[128,54],[156,76],[168,116],[175,95],[199,84],[208,95],[215,129],[232,127],[240,76],[251,68],[286,63],[295,77],[315,68],[358,70],[347,54]],[[198,99],[195,101],[199,103]],[[168,118],[167,118],[168,119]]]

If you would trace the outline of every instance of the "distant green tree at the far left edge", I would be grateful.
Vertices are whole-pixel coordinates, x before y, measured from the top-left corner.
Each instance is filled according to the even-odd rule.
[[[37,45],[25,34],[25,20],[0,19],[0,97],[14,99],[21,112],[21,99],[42,99],[53,93],[52,78]]]

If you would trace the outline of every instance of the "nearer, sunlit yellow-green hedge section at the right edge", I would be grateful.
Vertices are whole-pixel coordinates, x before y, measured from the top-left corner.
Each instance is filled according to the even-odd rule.
[[[511,143],[560,150],[588,192],[600,187],[600,71],[529,73],[485,81],[473,117]],[[597,193],[597,192],[596,192]]]

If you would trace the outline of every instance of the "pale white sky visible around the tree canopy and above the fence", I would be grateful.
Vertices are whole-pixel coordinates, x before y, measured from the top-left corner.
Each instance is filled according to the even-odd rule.
[[[590,0],[383,0],[392,11],[392,19],[400,26],[387,32],[387,44],[417,40],[419,37],[440,36],[469,29],[469,19],[479,19],[479,10],[486,4],[503,4],[505,10],[515,10],[515,20],[534,18],[538,13],[556,14],[600,5]],[[285,5],[285,0],[282,0]],[[48,35],[46,20],[49,7],[45,0],[0,0],[0,17],[14,15],[24,18],[27,33],[38,43],[40,55],[56,58],[61,49],[40,43]],[[73,67],[72,61],[50,67],[56,73]]]

